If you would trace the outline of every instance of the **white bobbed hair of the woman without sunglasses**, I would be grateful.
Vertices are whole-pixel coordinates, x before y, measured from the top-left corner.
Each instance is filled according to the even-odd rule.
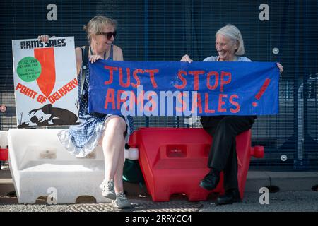
[[[216,35],[224,35],[226,37],[230,37],[231,40],[234,42],[238,42],[238,48],[235,52],[235,55],[243,55],[245,54],[245,48],[244,48],[244,42],[243,37],[241,35],[240,30],[238,30],[235,25],[228,24],[224,26],[223,28],[220,28],[218,32],[216,32]]]

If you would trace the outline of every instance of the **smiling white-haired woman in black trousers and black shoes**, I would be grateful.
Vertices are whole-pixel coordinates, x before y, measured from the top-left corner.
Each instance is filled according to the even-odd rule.
[[[216,32],[216,51],[218,56],[207,57],[204,61],[251,61],[245,54],[244,42],[240,30],[234,25],[226,25]],[[192,62],[188,55],[181,61]],[[283,66],[277,63],[280,72]],[[201,117],[203,128],[213,136],[211,151],[208,156],[210,172],[201,180],[199,186],[213,190],[220,181],[220,172],[224,173],[225,195],[219,196],[217,204],[240,202],[237,182],[237,155],[235,137],[252,128],[256,116],[204,116]]]

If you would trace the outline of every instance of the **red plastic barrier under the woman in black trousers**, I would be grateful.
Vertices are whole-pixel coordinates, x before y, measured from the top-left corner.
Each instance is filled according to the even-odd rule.
[[[169,201],[172,194],[186,194],[189,201],[204,201],[211,192],[224,193],[223,174],[213,191],[199,187],[208,173],[211,136],[204,129],[140,128],[129,140],[139,148],[139,164],[153,201]],[[241,133],[237,143],[237,179],[243,198],[251,155],[262,157],[264,148],[251,147],[251,131]]]

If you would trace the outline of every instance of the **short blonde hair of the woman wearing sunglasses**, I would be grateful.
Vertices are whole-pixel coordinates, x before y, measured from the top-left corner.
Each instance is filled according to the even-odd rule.
[[[92,35],[98,35],[102,33],[105,26],[111,25],[116,30],[117,21],[106,16],[98,15],[91,19],[83,29],[87,32],[88,41],[92,40]]]

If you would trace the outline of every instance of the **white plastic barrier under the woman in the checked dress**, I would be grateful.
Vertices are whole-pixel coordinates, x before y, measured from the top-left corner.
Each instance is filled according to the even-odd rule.
[[[109,202],[99,188],[104,179],[102,147],[85,158],[74,157],[59,142],[59,131],[9,130],[9,164],[18,202],[35,203],[39,196],[49,196],[52,203],[76,203],[78,196]],[[138,150],[125,155],[138,159]]]

